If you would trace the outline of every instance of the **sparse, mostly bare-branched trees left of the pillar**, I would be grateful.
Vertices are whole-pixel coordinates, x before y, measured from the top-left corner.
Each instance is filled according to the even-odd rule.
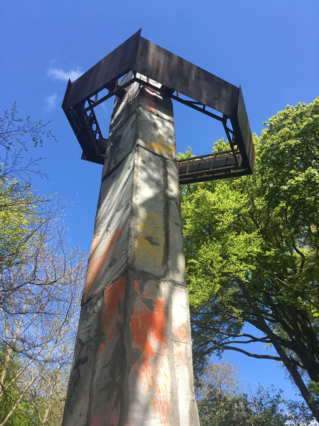
[[[65,203],[40,197],[25,138],[51,136],[47,123],[0,119],[0,425],[61,422],[86,255],[71,247]]]

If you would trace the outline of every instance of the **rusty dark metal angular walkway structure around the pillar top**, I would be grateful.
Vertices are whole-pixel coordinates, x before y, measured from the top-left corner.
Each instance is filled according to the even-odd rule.
[[[119,79],[130,71],[132,78],[121,84]],[[147,82],[138,74],[146,76]],[[159,82],[160,88],[150,79]],[[153,87],[223,124],[231,149],[178,160],[180,184],[253,173],[255,148],[241,87],[141,37],[141,30],[73,83],[68,82],[62,108],[81,145],[83,159],[104,163],[108,140],[102,135],[94,107],[111,96],[123,97],[134,82]],[[105,89],[107,94],[101,97]]]

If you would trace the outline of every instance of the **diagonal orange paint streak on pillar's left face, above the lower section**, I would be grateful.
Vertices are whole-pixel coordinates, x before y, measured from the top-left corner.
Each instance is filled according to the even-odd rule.
[[[117,228],[112,232],[110,238],[108,239],[107,243],[102,249],[100,256],[96,260],[94,260],[94,258],[95,258],[95,252],[97,249],[100,235],[97,235],[96,237],[94,237],[92,241],[89,263],[88,263],[88,270],[86,275],[86,286],[83,292],[84,297],[88,296],[88,294],[92,290],[92,287],[94,286],[95,281],[101,274],[106,262],[109,260],[112,254],[112,251],[118,239],[120,238],[122,229],[123,228]]]

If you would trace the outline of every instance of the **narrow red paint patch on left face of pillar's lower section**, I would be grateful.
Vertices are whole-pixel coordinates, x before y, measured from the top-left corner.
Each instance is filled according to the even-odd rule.
[[[119,313],[119,302],[123,305],[125,296],[126,278],[122,277],[108,286],[104,291],[104,308],[102,314],[102,334],[106,339],[99,348],[99,358],[107,347],[110,339],[116,333],[117,338],[120,337],[117,331],[117,325],[124,320],[123,313]]]

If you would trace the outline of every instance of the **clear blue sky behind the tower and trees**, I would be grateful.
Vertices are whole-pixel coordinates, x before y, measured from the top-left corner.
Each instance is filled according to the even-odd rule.
[[[74,80],[140,27],[160,46],[239,86],[252,132],[287,104],[319,95],[318,0],[21,1],[2,2],[0,16],[0,116],[17,102],[19,115],[52,120],[57,142],[30,149],[50,180],[35,179],[76,197],[67,226],[70,238],[89,250],[102,166],[82,161],[80,146],[61,109],[67,79]],[[107,136],[112,101],[100,107]],[[174,104],[177,151],[209,153],[224,136],[219,123]],[[274,362],[226,354],[242,380],[295,390]]]

